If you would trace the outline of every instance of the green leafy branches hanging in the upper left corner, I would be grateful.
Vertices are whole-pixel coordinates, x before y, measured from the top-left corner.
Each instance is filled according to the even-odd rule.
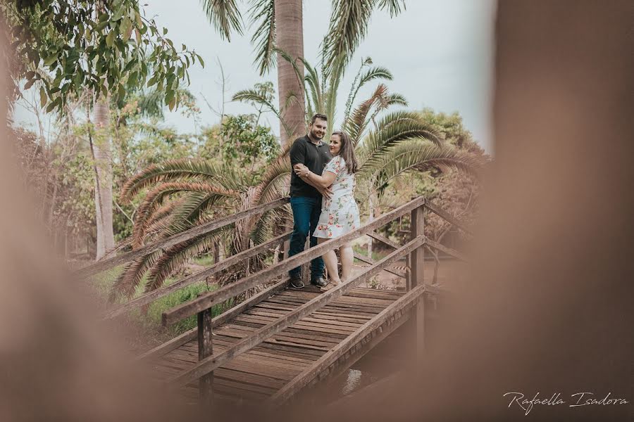
[[[117,101],[146,82],[174,108],[180,82],[197,59],[202,64],[135,0],[3,1],[0,11],[15,54],[13,79],[26,79],[25,89],[39,86],[47,111],[63,112],[85,89]]]

